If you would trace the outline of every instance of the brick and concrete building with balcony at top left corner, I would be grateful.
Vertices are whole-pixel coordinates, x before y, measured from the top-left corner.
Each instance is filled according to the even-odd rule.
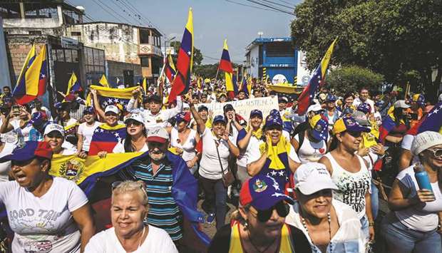
[[[44,44],[48,47],[48,91],[52,96],[43,98],[46,103],[55,99],[56,91],[66,92],[72,73],[76,73],[83,88],[86,88],[86,80],[105,73],[103,50],[88,48],[63,36],[66,26],[82,22],[82,15],[81,9],[63,1],[0,4],[13,88],[33,43],[37,51]]]

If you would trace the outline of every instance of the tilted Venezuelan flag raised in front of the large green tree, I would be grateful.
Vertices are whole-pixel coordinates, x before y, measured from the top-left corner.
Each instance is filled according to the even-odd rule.
[[[307,84],[304,91],[302,91],[301,95],[299,95],[297,109],[297,113],[299,115],[304,115],[304,113],[307,112],[307,108],[309,108],[309,105],[312,103],[314,98],[314,93],[316,93],[322,83],[324,83],[327,67],[329,66],[329,61],[332,57],[333,48],[336,41],[337,38],[335,38],[332,45],[329,46],[329,49],[325,53],[324,58],[322,58],[321,63],[319,63],[318,68],[316,71],[314,71],[312,77],[310,77],[309,84]]]

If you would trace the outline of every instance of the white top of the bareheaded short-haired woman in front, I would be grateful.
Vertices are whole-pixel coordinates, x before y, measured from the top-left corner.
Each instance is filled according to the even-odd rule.
[[[148,236],[143,244],[132,253],[175,253],[178,252],[175,244],[165,230],[149,226]],[[115,227],[106,229],[94,235],[86,245],[85,253],[125,253],[118,237],[115,234]]]

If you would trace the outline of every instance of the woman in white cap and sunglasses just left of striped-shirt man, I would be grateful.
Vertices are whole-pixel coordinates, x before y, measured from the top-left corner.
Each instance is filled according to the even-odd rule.
[[[113,148],[113,153],[130,153],[148,151],[144,117],[141,113],[133,112],[124,120],[126,125],[126,138]]]

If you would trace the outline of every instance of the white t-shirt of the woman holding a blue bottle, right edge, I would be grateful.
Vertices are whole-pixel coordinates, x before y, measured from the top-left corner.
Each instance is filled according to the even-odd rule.
[[[414,165],[411,165],[396,176],[396,179],[400,180],[410,190],[409,195],[404,196],[404,198],[408,199],[415,196],[419,189],[413,168]],[[438,227],[438,212],[442,211],[442,193],[438,182],[431,183],[431,188],[433,188],[434,197],[436,197],[435,201],[413,205],[404,210],[394,212],[396,217],[406,227],[421,232],[429,232]]]

